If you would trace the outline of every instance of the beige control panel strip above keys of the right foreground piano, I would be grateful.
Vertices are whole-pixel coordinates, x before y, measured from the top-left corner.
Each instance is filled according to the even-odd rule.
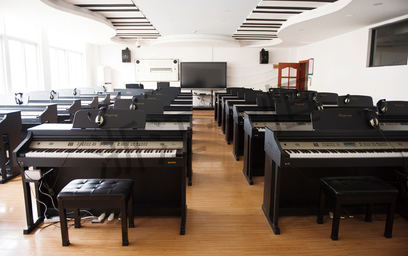
[[[289,141],[279,142],[283,150],[291,149],[408,149],[408,141]]]

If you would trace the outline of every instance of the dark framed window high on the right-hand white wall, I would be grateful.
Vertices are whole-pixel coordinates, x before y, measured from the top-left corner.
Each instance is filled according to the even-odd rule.
[[[373,28],[370,67],[407,65],[408,20]]]

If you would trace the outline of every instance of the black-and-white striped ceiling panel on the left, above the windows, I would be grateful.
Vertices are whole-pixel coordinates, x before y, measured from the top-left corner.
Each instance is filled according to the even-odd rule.
[[[94,11],[104,16],[116,28],[116,36],[121,38],[141,37],[155,39],[160,33],[131,0],[63,0]]]

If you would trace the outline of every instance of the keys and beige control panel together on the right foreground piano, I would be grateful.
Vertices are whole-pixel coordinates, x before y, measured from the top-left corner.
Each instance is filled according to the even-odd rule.
[[[408,156],[406,141],[279,142],[289,158],[400,158]]]

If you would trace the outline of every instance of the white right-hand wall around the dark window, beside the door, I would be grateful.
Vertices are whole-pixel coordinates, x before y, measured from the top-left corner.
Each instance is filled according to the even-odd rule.
[[[368,67],[370,28],[408,18],[408,15],[316,42],[297,49],[297,59],[314,58],[308,90],[408,100],[408,66]],[[292,61],[296,61],[293,60]]]

